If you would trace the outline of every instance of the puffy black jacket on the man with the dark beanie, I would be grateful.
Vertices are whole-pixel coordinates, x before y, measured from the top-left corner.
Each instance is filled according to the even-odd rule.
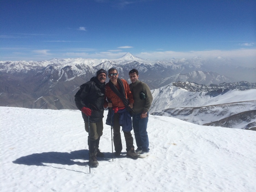
[[[79,110],[82,107],[90,108],[92,110],[90,122],[96,123],[103,118],[104,97],[105,82],[101,83],[96,77],[92,77],[90,81],[80,86],[75,95],[75,103]],[[88,122],[88,117],[83,112],[82,117]]]

